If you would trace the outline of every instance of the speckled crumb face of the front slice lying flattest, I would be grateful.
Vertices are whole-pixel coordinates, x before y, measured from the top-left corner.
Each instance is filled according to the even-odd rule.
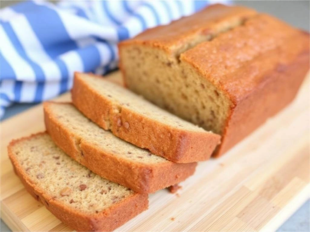
[[[20,140],[12,147],[23,172],[55,201],[85,213],[99,213],[135,194],[78,164],[58,148],[47,134]]]

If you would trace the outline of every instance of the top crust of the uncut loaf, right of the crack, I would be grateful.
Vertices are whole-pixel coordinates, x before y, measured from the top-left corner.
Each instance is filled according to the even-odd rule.
[[[268,72],[285,69],[303,53],[309,53],[308,33],[260,14],[185,51],[180,61],[194,67],[236,105],[269,81]]]

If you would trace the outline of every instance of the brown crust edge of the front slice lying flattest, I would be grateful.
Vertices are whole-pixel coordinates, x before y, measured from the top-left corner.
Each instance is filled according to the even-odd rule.
[[[65,224],[77,231],[112,231],[148,208],[148,195],[139,193],[121,200],[97,214],[82,213],[53,199],[52,196],[31,181],[12,152],[12,147],[19,141],[29,140],[40,134],[44,134],[44,132],[11,141],[8,145],[8,155],[15,173],[19,176],[26,190]]]

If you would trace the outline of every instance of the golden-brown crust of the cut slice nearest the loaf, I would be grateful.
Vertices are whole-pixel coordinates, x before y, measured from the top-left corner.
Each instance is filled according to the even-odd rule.
[[[117,137],[173,162],[207,160],[219,144],[220,136],[214,133],[169,127],[125,107],[121,112],[115,112],[112,102],[91,89],[78,72],[75,73],[71,92],[73,104],[100,127],[110,129]],[[126,123],[129,128],[126,128]]]

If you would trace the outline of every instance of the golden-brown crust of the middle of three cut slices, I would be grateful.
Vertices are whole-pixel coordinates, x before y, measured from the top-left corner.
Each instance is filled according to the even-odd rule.
[[[160,164],[143,164],[105,153],[94,145],[78,138],[64,128],[44,103],[44,119],[47,132],[66,154],[96,174],[131,188],[139,193],[153,193],[179,183],[195,172],[197,163],[177,164],[166,161]]]

